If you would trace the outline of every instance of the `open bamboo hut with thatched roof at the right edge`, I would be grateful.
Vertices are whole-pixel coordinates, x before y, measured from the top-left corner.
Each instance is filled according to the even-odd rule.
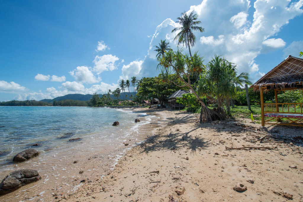
[[[278,103],[277,93],[303,89],[303,59],[288,56],[250,88],[260,91],[261,124],[303,126],[303,103]],[[275,103],[264,103],[263,93],[275,90]]]

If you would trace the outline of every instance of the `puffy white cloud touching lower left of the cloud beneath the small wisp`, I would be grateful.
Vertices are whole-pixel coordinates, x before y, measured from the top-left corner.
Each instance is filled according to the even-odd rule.
[[[78,66],[76,69],[69,72],[76,81],[84,83],[96,83],[100,78],[96,78],[92,71],[87,66]]]

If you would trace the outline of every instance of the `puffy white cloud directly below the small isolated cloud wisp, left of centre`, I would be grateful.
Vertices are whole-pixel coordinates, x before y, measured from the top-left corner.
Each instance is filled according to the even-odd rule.
[[[94,59],[95,66],[93,67],[93,71],[97,74],[100,74],[104,71],[113,71],[118,69],[115,62],[119,60],[117,56],[113,55],[103,55],[103,56],[96,56]]]

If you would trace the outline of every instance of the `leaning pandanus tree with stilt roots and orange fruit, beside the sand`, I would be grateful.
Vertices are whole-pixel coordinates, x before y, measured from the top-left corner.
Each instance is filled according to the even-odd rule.
[[[182,53],[182,49],[178,51],[168,50],[163,57],[158,58],[158,67],[161,67],[160,75],[162,82],[173,83],[179,87],[188,87],[196,96],[198,102],[201,104],[201,113],[199,121],[213,121],[219,118],[215,110],[209,109],[195,92],[194,86],[191,84],[190,77],[194,74],[202,74],[205,72],[205,65],[203,64],[203,57],[199,56],[197,52],[193,56],[188,56]],[[170,74],[175,74],[184,85],[169,79]]]

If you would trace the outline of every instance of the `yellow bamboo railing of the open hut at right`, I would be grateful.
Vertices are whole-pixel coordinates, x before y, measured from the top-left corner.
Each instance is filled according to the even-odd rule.
[[[264,103],[264,113],[302,114],[303,103]]]

